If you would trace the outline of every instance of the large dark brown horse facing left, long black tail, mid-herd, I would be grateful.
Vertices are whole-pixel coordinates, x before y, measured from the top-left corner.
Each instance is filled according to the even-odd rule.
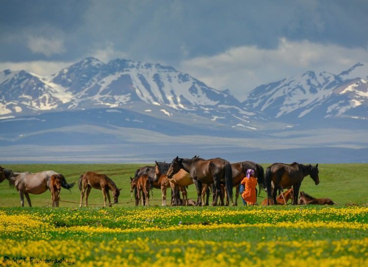
[[[172,178],[180,169],[190,173],[190,177],[198,180],[200,183],[214,184],[216,192],[212,202],[213,206],[216,205],[218,197],[220,197],[221,205],[224,205],[221,183],[225,183],[227,194],[233,199],[233,173],[231,164],[227,160],[221,158],[205,160],[197,157],[192,159],[176,157],[171,162],[170,168],[167,171],[167,177],[169,179]],[[198,198],[201,199],[202,184],[200,184],[200,188],[198,189]]]

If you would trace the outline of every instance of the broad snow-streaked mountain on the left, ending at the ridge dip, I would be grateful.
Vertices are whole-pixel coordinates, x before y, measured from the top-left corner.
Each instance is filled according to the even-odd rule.
[[[0,74],[0,115],[23,116],[45,111],[127,108],[148,104],[171,117],[192,113],[212,121],[242,125],[254,115],[231,95],[160,64],[116,59],[107,64],[86,58],[48,77],[33,73]],[[149,107],[151,105],[151,108]],[[156,108],[152,108],[156,107]],[[245,126],[244,126],[245,127]]]

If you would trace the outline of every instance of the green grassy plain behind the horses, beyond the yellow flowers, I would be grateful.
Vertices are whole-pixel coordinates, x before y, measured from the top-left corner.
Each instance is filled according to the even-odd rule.
[[[152,165],[152,164],[147,164]],[[30,171],[38,172],[43,170],[54,170],[64,174],[68,183],[76,182],[71,189],[71,193],[63,189],[61,191],[61,200],[76,202],[61,202],[61,207],[77,207],[79,203],[80,192],[78,189],[79,176],[86,171],[96,171],[104,173],[110,177],[119,188],[122,188],[118,206],[133,206],[134,199],[130,193],[130,177],[134,172],[144,164],[30,164],[30,165],[2,165],[3,168],[13,171]],[[265,169],[269,164],[262,164]],[[366,204],[368,203],[368,164],[319,164],[320,184],[315,186],[314,181],[309,177],[305,177],[301,190],[314,197],[328,197],[339,205],[347,203]],[[234,190],[235,194],[235,190]],[[168,190],[170,195],[170,190]],[[189,198],[196,199],[196,191],[194,185],[188,187]],[[261,203],[265,197],[262,192],[258,198]],[[161,205],[160,190],[153,190],[151,196],[151,205]],[[49,191],[44,194],[30,195],[33,207],[46,207],[51,204],[51,194]],[[169,197],[168,197],[169,198]],[[238,204],[241,204],[238,199]],[[89,203],[96,204],[93,207],[101,207],[103,205],[102,192],[92,190]],[[0,184],[0,207],[18,207],[20,206],[19,194],[15,188],[10,188],[7,181]],[[25,206],[27,206],[25,200]]]

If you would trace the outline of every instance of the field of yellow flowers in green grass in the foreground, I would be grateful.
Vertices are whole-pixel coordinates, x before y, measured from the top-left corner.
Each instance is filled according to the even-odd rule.
[[[368,266],[366,207],[0,208],[0,266]]]

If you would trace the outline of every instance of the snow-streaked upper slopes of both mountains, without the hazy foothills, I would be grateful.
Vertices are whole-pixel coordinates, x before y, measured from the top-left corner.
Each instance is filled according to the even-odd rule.
[[[232,127],[257,129],[259,122],[368,117],[368,70],[356,64],[340,74],[306,72],[261,85],[240,103],[189,74],[160,64],[96,58],[51,76],[0,73],[0,118],[91,108],[137,108],[151,115],[194,114]],[[173,118],[176,120],[177,118]],[[260,120],[262,119],[262,120]],[[258,125],[258,126],[257,126]]]

